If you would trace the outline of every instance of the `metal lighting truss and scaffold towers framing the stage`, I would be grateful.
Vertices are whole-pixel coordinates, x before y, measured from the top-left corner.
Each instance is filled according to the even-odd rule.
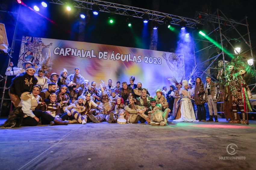
[[[58,5],[65,5],[65,3],[66,3],[65,0],[50,0],[49,2],[51,4],[58,4]],[[226,34],[231,30],[236,31],[236,36],[237,36],[236,39],[237,40],[242,39],[242,41],[247,46],[245,50],[250,51],[251,58],[253,58],[250,32],[249,32],[249,27],[248,27],[248,22],[247,22],[246,16],[241,21],[236,21],[234,19],[227,18],[221,10],[217,9],[217,11],[215,11],[212,14],[207,14],[204,12],[196,12],[195,18],[192,19],[192,18],[187,18],[187,17],[183,17],[183,16],[162,13],[162,12],[158,12],[158,11],[154,11],[154,10],[148,10],[148,9],[132,7],[132,6],[127,6],[127,5],[122,5],[122,4],[116,4],[116,3],[112,3],[112,2],[106,2],[106,1],[99,1],[99,0],[71,0],[70,2],[72,2],[73,7],[80,8],[80,9],[92,10],[92,8],[96,6],[96,7],[98,7],[100,12],[113,13],[113,14],[117,14],[117,15],[123,15],[123,16],[135,17],[135,18],[143,18],[144,16],[148,16],[149,20],[155,21],[158,23],[169,22],[172,25],[180,25],[183,22],[186,25],[186,27],[195,28],[192,32],[193,41],[194,41],[193,49],[194,49],[195,65],[201,65],[207,61],[210,61],[211,59],[214,59],[205,70],[202,70],[204,67],[201,67],[201,70],[202,70],[201,77],[204,74],[207,74],[206,71],[209,68],[211,68],[211,65],[217,60],[217,58],[219,58],[220,55],[222,55],[223,63],[225,63],[225,55],[226,54],[223,51],[223,38],[225,40],[227,40],[229,45],[231,45],[233,47],[233,45],[229,42],[229,40],[226,36]],[[245,21],[245,23],[243,23],[244,21]],[[199,49],[199,50],[195,51],[195,49],[197,49],[196,46],[198,43],[210,42],[208,40],[205,40],[204,37],[198,38],[197,37],[198,34],[195,35],[196,28],[203,26],[205,24],[209,24],[209,23],[211,24],[212,31],[208,34],[208,36],[210,36],[212,33],[218,32],[218,34],[220,36],[220,44],[222,46],[222,52],[220,52],[218,55],[216,55],[210,59],[207,59],[206,61],[203,61],[203,62],[197,64],[196,56],[198,56],[199,52],[201,52],[205,49],[209,49],[209,47],[211,47],[211,46],[214,46],[214,44],[211,44],[208,47],[204,47],[203,49]],[[15,25],[15,30],[16,30],[16,26],[17,26],[17,24]],[[237,27],[240,27],[240,26],[242,26],[243,29],[246,29],[246,31],[247,31],[246,34],[242,35],[238,31]],[[223,27],[226,28],[225,31],[223,31],[223,29],[222,29]],[[246,40],[247,38],[245,38],[245,36],[247,36],[247,35],[248,35],[248,40]],[[12,41],[12,47],[14,47],[14,44],[15,44],[16,31],[14,31],[13,37],[14,38]],[[11,49],[13,49],[13,48],[11,48]],[[225,67],[225,65],[224,65],[224,67]],[[253,63],[253,68],[254,68],[254,63]],[[225,70],[225,68],[224,68],[224,70]],[[225,75],[226,75],[226,73],[225,73]],[[6,80],[7,80],[7,76],[5,76],[5,82],[6,82]],[[255,87],[256,87],[256,85],[254,85],[252,90]],[[1,101],[0,116],[1,116],[1,112],[2,112],[3,100],[6,100],[6,99],[4,99],[5,90],[8,89],[8,88],[6,88],[6,83],[5,83],[5,86],[3,87],[3,89],[4,90],[3,90],[3,95],[1,98],[2,101]]]

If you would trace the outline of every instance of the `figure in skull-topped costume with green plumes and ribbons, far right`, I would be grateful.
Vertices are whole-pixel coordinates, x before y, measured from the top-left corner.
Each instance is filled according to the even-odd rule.
[[[248,124],[246,113],[252,111],[249,101],[252,95],[245,80],[253,77],[254,72],[251,66],[242,61],[240,56],[229,62],[229,64],[226,64],[226,66],[227,75],[223,77],[226,79],[226,95],[224,97],[224,113],[226,120],[229,120],[229,123]],[[238,109],[240,109],[242,119],[240,119],[237,113]]]

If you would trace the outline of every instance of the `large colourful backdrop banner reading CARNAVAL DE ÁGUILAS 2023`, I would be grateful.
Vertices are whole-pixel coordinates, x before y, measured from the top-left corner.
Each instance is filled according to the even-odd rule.
[[[137,49],[67,40],[38,37],[22,37],[17,67],[31,61],[38,64],[50,51],[54,63],[52,71],[60,73],[66,68],[69,74],[74,68],[80,68],[80,74],[90,82],[99,79],[107,84],[112,79],[129,83],[129,77],[135,76],[135,82],[141,82],[151,95],[158,88],[171,84],[167,78],[174,76],[180,80],[184,74],[184,56],[171,52]],[[46,75],[47,76],[47,75]]]

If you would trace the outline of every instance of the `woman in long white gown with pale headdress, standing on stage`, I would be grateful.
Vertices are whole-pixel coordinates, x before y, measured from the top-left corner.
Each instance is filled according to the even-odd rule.
[[[180,96],[182,96],[181,100],[181,106],[180,106],[180,112],[181,116],[177,120],[173,120],[175,122],[198,122],[195,118],[194,109],[191,103],[191,91],[188,90],[188,81],[183,80],[182,81],[184,89],[180,89]]]

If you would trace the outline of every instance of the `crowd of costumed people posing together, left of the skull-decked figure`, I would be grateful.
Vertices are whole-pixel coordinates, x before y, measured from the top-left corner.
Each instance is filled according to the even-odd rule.
[[[187,80],[175,80],[175,86],[170,85],[168,92],[164,86],[151,96],[146,88],[142,88],[141,82],[134,83],[134,76],[130,76],[130,84],[117,81],[113,86],[109,79],[107,85],[102,81],[96,88],[96,82],[84,79],[79,68],[70,75],[63,69],[60,75],[52,73],[47,78],[46,71],[36,70],[30,61],[23,63],[23,69],[14,70],[12,66],[11,63],[6,75],[16,75],[9,90],[15,109],[5,126],[103,121],[120,124],[140,121],[164,126],[167,120],[198,122],[206,121],[205,102],[210,113],[207,121],[213,121],[214,117],[218,122],[218,85],[211,81],[210,76],[206,76],[205,85],[197,77],[193,88]]]

